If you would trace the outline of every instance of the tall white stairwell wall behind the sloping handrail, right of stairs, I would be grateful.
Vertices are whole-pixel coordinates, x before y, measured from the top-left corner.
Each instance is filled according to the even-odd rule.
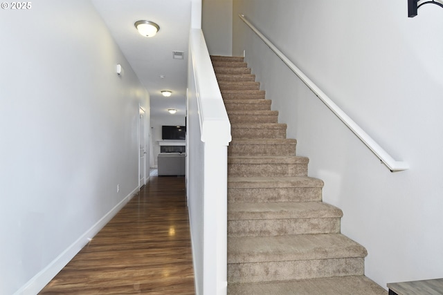
[[[407,1],[234,0],[233,55],[262,82],[379,285],[443,276],[443,10]],[[244,14],[410,170],[390,173],[238,19]]]

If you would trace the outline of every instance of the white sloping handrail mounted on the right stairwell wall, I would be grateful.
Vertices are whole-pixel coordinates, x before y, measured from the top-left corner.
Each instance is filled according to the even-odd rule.
[[[244,15],[239,15],[239,17],[255,32],[255,34],[257,34],[258,37],[260,37],[260,39],[264,41],[267,46],[269,46],[269,48],[271,48],[271,50],[278,57],[280,57],[280,59],[282,59],[284,64],[286,64],[293,71],[293,73],[295,73],[302,80],[302,82],[311,89],[312,92],[314,92],[314,94],[329,108],[329,110],[331,110],[332,113],[334,113],[338,119],[341,120],[341,122],[343,122],[366,146],[368,146],[372,153],[374,153],[374,155],[376,155],[377,158],[379,158],[391,172],[409,169],[409,165],[406,162],[394,160],[384,149],[382,149],[381,146],[379,146],[379,144],[377,144],[377,142],[375,142],[372,137],[368,135],[368,133],[365,133],[365,131],[363,131],[363,129],[361,129],[361,127],[354,122],[354,120],[352,120],[341,108],[332,102],[332,99],[323,93],[323,91],[321,91],[320,88],[318,88],[318,86],[311,81],[311,79],[302,73],[302,71],[280,50],[278,50],[278,48],[275,47],[275,45],[273,45],[269,39],[264,37],[264,35],[244,17]]]

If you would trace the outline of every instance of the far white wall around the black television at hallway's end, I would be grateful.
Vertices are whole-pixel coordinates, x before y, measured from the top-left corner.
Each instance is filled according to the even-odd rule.
[[[157,167],[157,155],[160,153],[161,126],[185,126],[185,117],[180,115],[166,114],[163,116],[151,117],[151,133],[152,133],[152,151],[154,162],[151,163],[152,168]]]

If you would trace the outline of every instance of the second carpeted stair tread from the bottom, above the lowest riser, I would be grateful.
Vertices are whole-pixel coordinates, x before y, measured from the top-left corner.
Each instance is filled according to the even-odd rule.
[[[228,263],[363,258],[366,249],[342,234],[228,238]]]

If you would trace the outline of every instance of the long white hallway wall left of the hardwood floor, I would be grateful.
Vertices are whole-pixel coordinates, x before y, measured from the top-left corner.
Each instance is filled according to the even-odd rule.
[[[149,109],[90,1],[32,5],[0,17],[0,294],[36,294],[132,196]]]

